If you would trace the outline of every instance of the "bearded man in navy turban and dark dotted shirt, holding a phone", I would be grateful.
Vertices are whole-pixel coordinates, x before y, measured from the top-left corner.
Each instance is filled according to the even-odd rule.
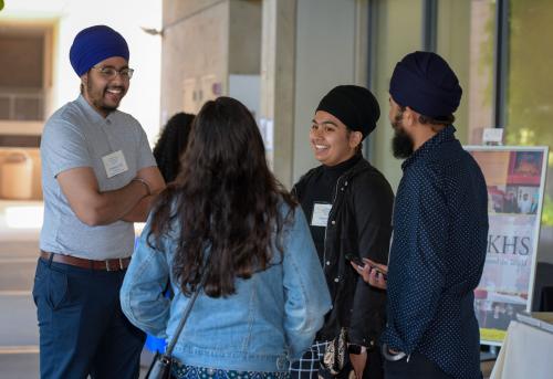
[[[389,94],[394,155],[406,159],[389,265],[379,265],[387,282],[357,269],[387,286],[385,377],[481,379],[473,289],[486,260],[488,194],[451,125],[462,91],[441,56],[415,52],[396,65]]]

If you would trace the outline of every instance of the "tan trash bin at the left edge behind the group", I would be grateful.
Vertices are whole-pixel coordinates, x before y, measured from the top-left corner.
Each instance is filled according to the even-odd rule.
[[[32,198],[33,161],[27,151],[10,151],[1,162],[0,177],[0,197],[3,199]]]

